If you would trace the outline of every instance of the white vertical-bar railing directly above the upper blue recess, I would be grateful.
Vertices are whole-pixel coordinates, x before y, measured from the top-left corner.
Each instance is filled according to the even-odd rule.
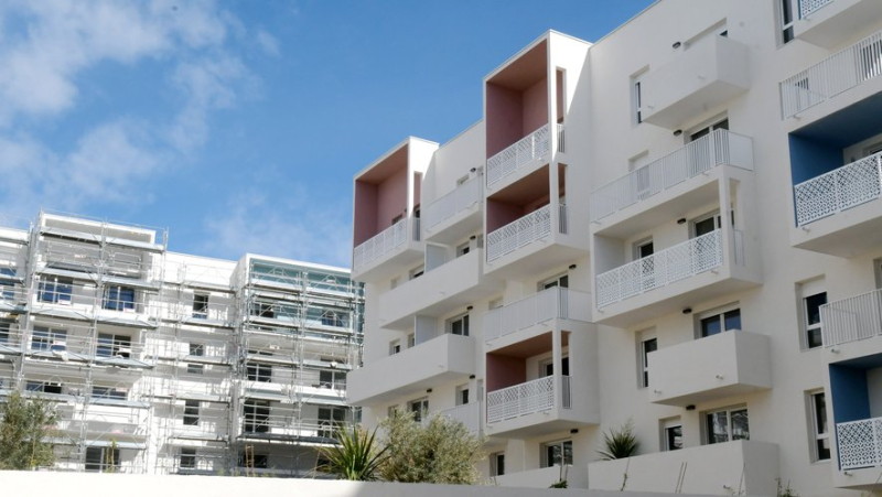
[[[782,116],[793,117],[881,74],[882,31],[781,82]]]

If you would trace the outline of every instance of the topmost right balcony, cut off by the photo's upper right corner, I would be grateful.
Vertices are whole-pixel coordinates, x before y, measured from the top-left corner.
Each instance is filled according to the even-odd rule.
[[[794,36],[824,48],[833,48],[852,33],[870,28],[882,15],[875,0],[799,0]]]

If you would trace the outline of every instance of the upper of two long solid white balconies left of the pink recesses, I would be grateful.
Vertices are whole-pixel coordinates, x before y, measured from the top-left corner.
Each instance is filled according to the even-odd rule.
[[[413,317],[441,317],[463,310],[502,283],[484,277],[484,250],[475,249],[402,283],[379,296],[379,323],[396,329],[413,325]]]

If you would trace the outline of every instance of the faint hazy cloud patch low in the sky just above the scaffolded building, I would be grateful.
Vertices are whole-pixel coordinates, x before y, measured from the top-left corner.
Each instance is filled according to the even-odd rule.
[[[321,192],[293,186],[286,198],[250,190],[228,209],[205,223],[201,250],[238,258],[245,252],[349,267],[352,228],[348,207]]]

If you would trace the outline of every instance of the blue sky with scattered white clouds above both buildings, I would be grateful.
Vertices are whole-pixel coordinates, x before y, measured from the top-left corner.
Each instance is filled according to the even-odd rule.
[[[0,0],[0,214],[348,267],[355,172],[477,121],[481,78],[546,30],[649,3]]]

